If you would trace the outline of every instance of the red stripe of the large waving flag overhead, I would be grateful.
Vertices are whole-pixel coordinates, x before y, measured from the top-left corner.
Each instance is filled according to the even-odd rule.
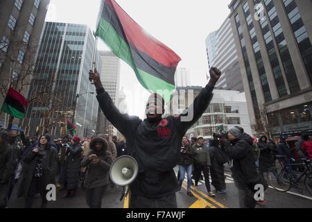
[[[177,67],[181,58],[174,51],[144,31],[116,1],[105,0],[105,2],[118,15],[119,21],[123,26],[123,31],[125,32],[125,37],[127,37],[129,42],[162,65],[166,67]]]

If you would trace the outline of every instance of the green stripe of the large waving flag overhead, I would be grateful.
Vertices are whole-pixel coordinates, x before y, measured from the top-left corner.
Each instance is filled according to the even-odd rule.
[[[96,29],[96,35],[101,37],[104,42],[110,46],[112,52],[121,58],[121,60],[125,61],[135,70],[135,74],[144,88],[148,89],[148,91],[154,93],[162,94],[158,92],[158,90],[168,90],[168,96],[166,94],[162,94],[166,102],[170,101],[172,90],[175,89],[175,85],[167,83],[166,81],[157,78],[151,74],[148,74],[146,71],[143,71],[135,66],[135,62],[133,62],[132,53],[130,50],[130,46],[125,40],[116,32],[115,28],[107,22],[105,19],[101,18],[98,23],[98,28]]]

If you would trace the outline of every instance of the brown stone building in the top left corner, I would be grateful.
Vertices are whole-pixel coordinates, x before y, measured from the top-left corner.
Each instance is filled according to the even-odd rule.
[[[10,85],[28,94],[49,0],[0,1],[0,104]],[[8,114],[0,121],[7,123]],[[5,124],[7,125],[7,124]]]

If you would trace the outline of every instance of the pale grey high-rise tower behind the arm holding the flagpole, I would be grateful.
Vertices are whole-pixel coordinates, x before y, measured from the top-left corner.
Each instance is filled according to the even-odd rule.
[[[110,95],[116,106],[119,105],[119,85],[121,62],[112,51],[100,51],[99,58],[102,62],[101,81],[105,91]],[[106,119],[102,110],[98,110],[98,124],[96,128],[98,134],[116,135],[117,131],[112,123]]]

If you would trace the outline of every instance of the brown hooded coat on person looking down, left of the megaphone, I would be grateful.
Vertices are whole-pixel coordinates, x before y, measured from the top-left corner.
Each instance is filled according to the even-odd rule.
[[[97,151],[95,143],[100,141],[104,148],[101,151]],[[81,167],[87,167],[87,175],[85,177],[84,186],[87,189],[93,189],[96,187],[102,187],[109,183],[110,166],[112,164],[112,154],[107,151],[107,142],[101,137],[96,137],[90,142],[89,155],[97,155],[100,158],[100,162],[93,164],[89,160],[89,155],[86,155],[81,162]]]

